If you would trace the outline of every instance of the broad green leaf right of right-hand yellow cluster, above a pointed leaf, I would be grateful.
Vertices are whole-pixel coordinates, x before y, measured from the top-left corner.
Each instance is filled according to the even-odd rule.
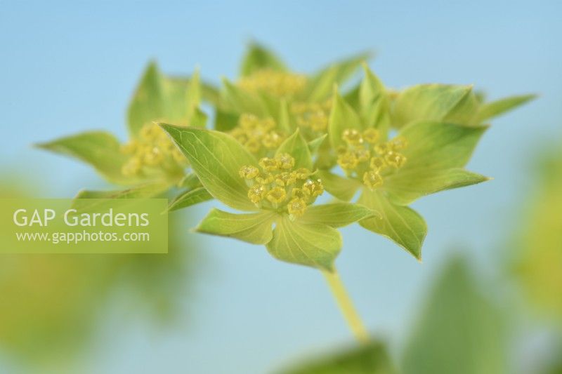
[[[465,166],[487,129],[432,121],[412,123],[399,133],[408,146],[402,151],[407,161],[398,173]]]

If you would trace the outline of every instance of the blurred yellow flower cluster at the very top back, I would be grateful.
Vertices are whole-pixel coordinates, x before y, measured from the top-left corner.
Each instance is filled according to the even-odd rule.
[[[268,93],[277,97],[291,96],[306,86],[306,76],[272,69],[261,69],[238,81],[238,86],[253,93]]]

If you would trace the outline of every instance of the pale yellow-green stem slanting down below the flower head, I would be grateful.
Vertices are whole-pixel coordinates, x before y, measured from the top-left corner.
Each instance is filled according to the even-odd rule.
[[[322,270],[322,274],[324,274],[329,288],[332,291],[332,295],[334,295],[339,309],[341,310],[341,313],[344,314],[344,318],[346,319],[349,328],[351,328],[351,331],[353,331],[355,338],[362,343],[369,342],[369,333],[367,333],[367,329],[365,328],[361,317],[353,306],[353,302],[351,301],[351,298],[349,298],[344,283],[342,283],[339,278],[338,272],[335,269],[334,272]]]

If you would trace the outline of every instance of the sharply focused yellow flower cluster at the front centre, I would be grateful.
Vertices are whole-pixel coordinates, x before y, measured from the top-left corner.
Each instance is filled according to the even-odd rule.
[[[280,154],[264,157],[259,167],[242,166],[240,178],[249,187],[248,199],[260,208],[287,211],[289,218],[300,217],[306,207],[324,192],[320,179],[311,179],[307,168],[294,170],[294,158]]]

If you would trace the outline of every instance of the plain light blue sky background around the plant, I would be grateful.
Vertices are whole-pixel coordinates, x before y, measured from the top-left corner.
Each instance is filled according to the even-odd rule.
[[[369,328],[396,352],[447,252],[459,248],[484,269],[494,266],[532,185],[532,155],[562,136],[561,4],[203,3],[0,1],[0,168],[44,181],[44,196],[103,187],[86,166],[30,144],[93,128],[124,138],[126,105],[148,60],[167,73],[200,65],[217,82],[237,73],[252,38],[303,72],[373,49],[371,66],[388,86],[475,84],[490,98],[539,93],[497,119],[478,146],[469,168],[495,180],[414,204],[429,225],[423,264],[358,227],[344,229],[341,275]],[[276,262],[258,246],[207,236],[200,243],[205,269],[188,327],[155,335],[112,315],[101,335],[122,333],[99,349],[93,371],[261,373],[351,341],[320,274]]]

